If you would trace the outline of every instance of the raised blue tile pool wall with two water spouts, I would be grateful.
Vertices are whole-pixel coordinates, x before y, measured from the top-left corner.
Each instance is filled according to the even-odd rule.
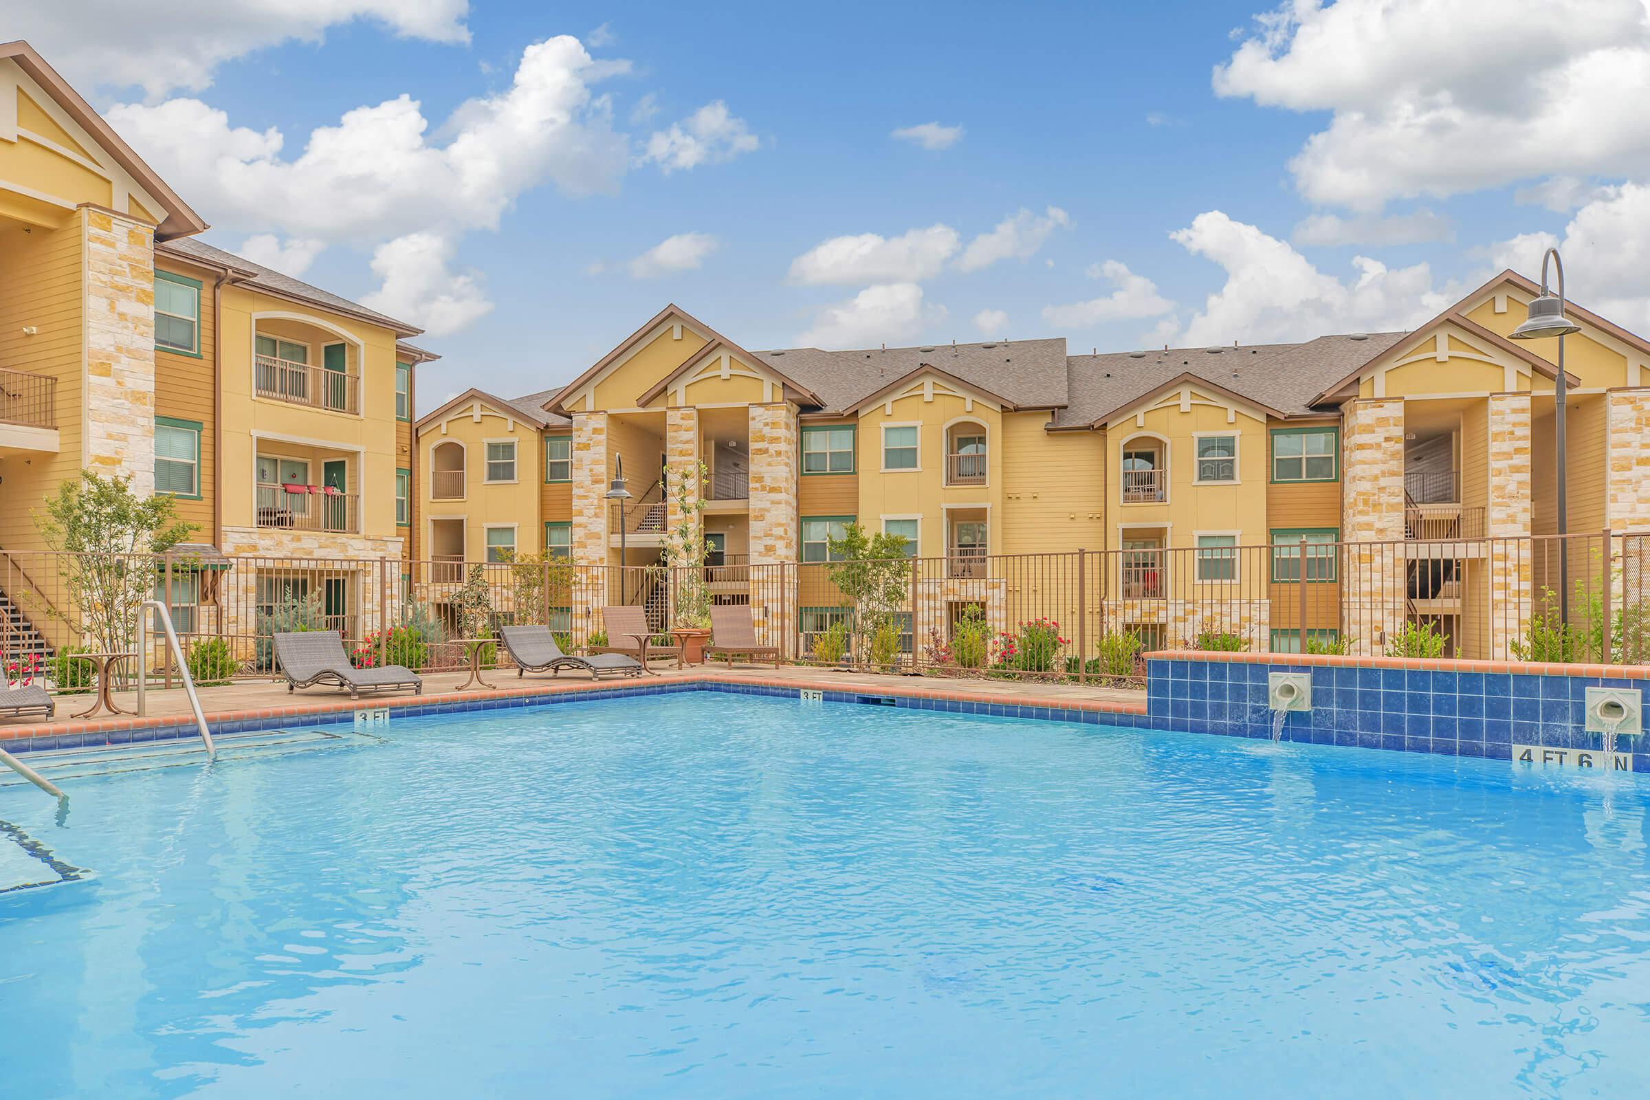
[[[1584,731],[1587,688],[1643,689],[1643,679],[1526,676],[1289,661],[1148,661],[1147,701],[1168,726],[1231,737],[1270,737],[1267,675],[1312,676],[1312,711],[1284,721],[1284,740],[1506,760],[1511,745],[1600,749]],[[1640,737],[1620,737],[1634,770],[1650,770]]]

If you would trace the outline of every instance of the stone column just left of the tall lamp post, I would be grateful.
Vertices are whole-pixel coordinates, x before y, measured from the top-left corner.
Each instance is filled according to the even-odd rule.
[[[1531,549],[1518,541],[1530,534],[1530,394],[1490,394],[1488,406],[1490,503],[1483,528],[1490,536],[1490,656],[1508,660],[1510,643],[1530,627]],[[1574,564],[1574,554],[1572,564]],[[1465,615],[1485,609],[1464,607]]]

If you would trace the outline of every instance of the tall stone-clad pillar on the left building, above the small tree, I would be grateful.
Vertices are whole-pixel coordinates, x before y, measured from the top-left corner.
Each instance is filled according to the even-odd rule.
[[[81,462],[155,491],[155,233],[125,214],[82,206],[86,340]]]

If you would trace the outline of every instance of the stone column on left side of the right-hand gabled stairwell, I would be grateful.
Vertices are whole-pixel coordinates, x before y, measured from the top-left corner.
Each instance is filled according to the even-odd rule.
[[[1346,406],[1341,440],[1343,633],[1355,653],[1383,653],[1406,617],[1404,402]],[[1302,571],[1305,562],[1302,562]]]

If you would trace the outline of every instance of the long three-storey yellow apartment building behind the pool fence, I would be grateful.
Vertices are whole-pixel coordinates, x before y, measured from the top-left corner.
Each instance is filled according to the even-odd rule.
[[[622,544],[622,564],[652,564],[676,521],[662,472],[701,460],[718,566],[822,562],[858,521],[944,559],[912,594],[940,618],[962,602],[1002,615],[1026,582],[993,562],[1087,549],[1109,551],[1089,600],[1152,642],[1213,628],[1379,646],[1429,620],[1450,651],[1505,655],[1551,577],[1497,539],[1556,533],[1556,341],[1508,338],[1536,294],[1508,270],[1407,333],[1096,355],[1063,340],[749,351],[670,305],[566,386],[470,391],[424,417],[422,538],[454,561],[548,548],[612,566]],[[1569,528],[1647,529],[1650,343],[1571,317]],[[632,500],[614,505],[620,470]],[[1358,544],[1356,579],[1338,576],[1338,543]],[[1272,548],[1267,577],[1239,576],[1244,546]],[[1195,554],[1172,569],[1172,549]],[[1254,597],[1209,600],[1221,585]],[[810,599],[787,592],[772,613],[805,620]],[[1520,610],[1477,637],[1473,599]]]

